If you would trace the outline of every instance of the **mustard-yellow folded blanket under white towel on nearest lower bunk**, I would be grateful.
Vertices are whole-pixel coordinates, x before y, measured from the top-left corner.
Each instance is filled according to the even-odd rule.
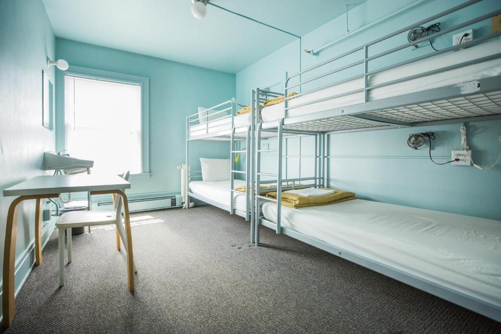
[[[350,191],[336,190],[331,188],[321,188],[321,189],[334,190],[334,194],[317,196],[317,197],[306,197],[288,192],[283,192],[282,205],[297,209],[308,206],[320,206],[320,205],[340,203],[356,198],[355,193]],[[266,194],[266,196],[276,199],[277,192],[269,192],[268,194]]]

